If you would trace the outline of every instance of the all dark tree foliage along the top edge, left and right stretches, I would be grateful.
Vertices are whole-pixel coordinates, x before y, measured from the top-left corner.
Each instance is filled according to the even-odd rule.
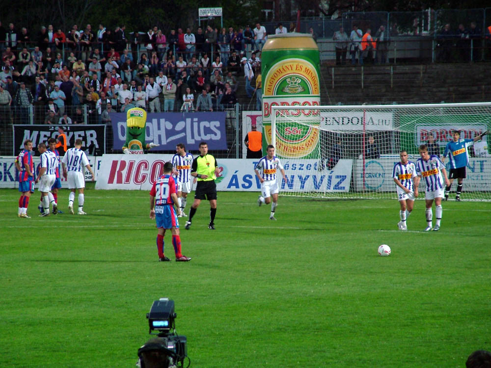
[[[223,26],[251,26],[264,18],[262,0],[222,0]],[[40,26],[53,24],[67,32],[77,24],[84,28],[91,24],[97,29],[99,23],[113,29],[125,24],[128,31],[146,31],[158,26],[164,33],[171,28],[198,26],[198,8],[216,7],[216,0],[19,0],[10,1],[2,7],[1,21],[4,26],[14,23],[17,29],[27,27],[36,33]],[[288,5],[288,6],[287,6]],[[489,0],[280,0],[281,20],[292,17],[300,10],[306,16],[332,16],[347,11],[417,11],[433,9],[471,9],[489,7]],[[290,13],[290,14],[288,14]],[[285,18],[283,18],[285,17]],[[293,18],[291,19],[294,20]],[[220,19],[202,19],[201,25],[208,23],[220,27]]]

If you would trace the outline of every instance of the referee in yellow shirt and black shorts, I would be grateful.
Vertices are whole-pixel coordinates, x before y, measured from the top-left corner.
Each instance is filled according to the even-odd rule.
[[[208,155],[208,144],[201,142],[199,144],[199,156],[194,159],[191,166],[191,176],[197,178],[196,190],[194,192],[194,202],[189,212],[189,220],[186,221],[186,230],[191,227],[192,217],[202,199],[210,201],[210,223],[208,229],[215,230],[215,214],[217,213],[217,174],[219,172],[217,160]]]

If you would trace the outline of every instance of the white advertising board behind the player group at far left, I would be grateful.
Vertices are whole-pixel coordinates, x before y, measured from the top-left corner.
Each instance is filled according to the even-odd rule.
[[[14,160],[16,156],[3,156],[0,157],[0,188],[18,188],[19,187],[19,172],[15,168]],[[99,168],[101,166],[101,156],[87,156],[90,166],[92,167],[92,171],[95,174],[95,178],[97,180],[97,175],[99,173]],[[37,168],[40,164],[39,156],[34,157],[34,168]],[[85,169],[85,181],[90,182],[92,180],[92,174]],[[34,185],[38,187],[38,184]],[[61,187],[68,188],[68,185],[61,175]]]

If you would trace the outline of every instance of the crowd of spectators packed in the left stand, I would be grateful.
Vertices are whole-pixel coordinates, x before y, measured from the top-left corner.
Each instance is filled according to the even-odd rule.
[[[208,25],[196,33],[177,28],[168,35],[157,26],[127,33],[124,25],[102,24],[97,30],[73,25],[67,33],[49,25],[30,34],[0,23],[0,106],[18,107],[16,119],[24,121],[32,105],[36,124],[82,123],[83,110],[88,123],[109,123],[108,111],[133,106],[149,112],[231,108],[242,60],[260,71],[266,38],[259,23],[253,29]]]

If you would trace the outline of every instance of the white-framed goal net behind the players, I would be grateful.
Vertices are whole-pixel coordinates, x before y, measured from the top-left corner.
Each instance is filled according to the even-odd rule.
[[[274,106],[265,131],[288,178],[281,194],[361,199],[397,197],[392,171],[401,150],[415,163],[426,144],[441,159],[453,130],[473,139],[490,128],[491,103],[475,103]],[[491,200],[488,137],[468,148],[463,200]],[[449,172],[448,157],[444,164]],[[450,199],[456,188],[457,181]]]

